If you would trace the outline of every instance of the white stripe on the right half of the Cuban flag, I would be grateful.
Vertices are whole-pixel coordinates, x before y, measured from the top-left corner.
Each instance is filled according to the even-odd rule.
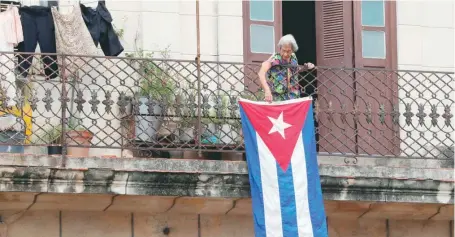
[[[299,236],[313,236],[310,207],[308,203],[308,180],[306,171],[305,149],[302,133],[291,157],[292,177],[294,179],[295,206],[297,212],[297,226]]]

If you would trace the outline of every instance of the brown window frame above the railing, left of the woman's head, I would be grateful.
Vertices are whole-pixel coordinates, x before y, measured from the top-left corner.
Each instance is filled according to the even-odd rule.
[[[242,1],[242,12],[243,12],[243,59],[245,63],[259,63],[270,58],[269,53],[253,53],[251,51],[251,35],[250,35],[250,26],[252,24],[264,25],[264,26],[273,26],[274,28],[274,49],[276,52],[276,44],[282,36],[282,5],[281,0],[273,1],[273,12],[274,12],[274,21],[257,21],[251,20],[250,18],[250,1]]]

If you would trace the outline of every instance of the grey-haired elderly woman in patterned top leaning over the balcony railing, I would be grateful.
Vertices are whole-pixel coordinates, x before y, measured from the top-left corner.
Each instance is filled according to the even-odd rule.
[[[300,97],[299,63],[295,52],[299,49],[292,35],[281,37],[279,52],[262,63],[258,76],[265,93],[265,101],[283,101]],[[312,69],[312,63],[305,63],[304,69]]]

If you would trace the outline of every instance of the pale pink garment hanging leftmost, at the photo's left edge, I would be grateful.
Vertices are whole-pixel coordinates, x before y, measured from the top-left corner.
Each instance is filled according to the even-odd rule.
[[[6,94],[8,107],[16,105],[16,76],[14,75],[14,46],[24,40],[22,24],[17,7],[9,6],[0,12],[0,85]]]

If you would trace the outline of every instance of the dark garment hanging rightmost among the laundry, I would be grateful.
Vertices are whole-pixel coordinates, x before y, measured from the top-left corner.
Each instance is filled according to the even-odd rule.
[[[92,35],[95,45],[101,45],[105,56],[118,56],[123,46],[112,26],[112,16],[105,1],[98,1],[96,10],[81,4],[82,17]]]

